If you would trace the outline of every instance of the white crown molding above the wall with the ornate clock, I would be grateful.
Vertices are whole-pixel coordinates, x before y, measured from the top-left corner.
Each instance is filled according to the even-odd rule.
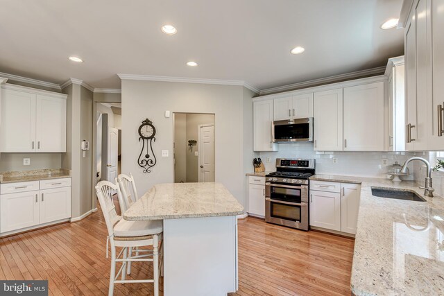
[[[162,81],[162,82],[185,82],[185,83],[202,83],[205,85],[239,85],[250,89],[259,94],[259,89],[242,80],[220,80],[206,78],[187,78],[187,77],[171,77],[171,76],[151,76],[139,74],[117,74],[121,80],[146,80],[146,81]]]

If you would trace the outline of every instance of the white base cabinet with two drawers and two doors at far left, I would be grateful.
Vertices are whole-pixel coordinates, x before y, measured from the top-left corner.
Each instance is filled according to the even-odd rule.
[[[70,178],[5,183],[0,186],[0,235],[70,217]]]

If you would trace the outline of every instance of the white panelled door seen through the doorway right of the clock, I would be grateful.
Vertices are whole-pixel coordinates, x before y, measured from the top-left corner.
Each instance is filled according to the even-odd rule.
[[[214,125],[199,125],[199,182],[214,182]]]

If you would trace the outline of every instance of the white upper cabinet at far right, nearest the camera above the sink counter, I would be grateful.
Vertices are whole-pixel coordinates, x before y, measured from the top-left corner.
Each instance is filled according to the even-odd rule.
[[[404,0],[406,150],[443,150],[444,2]]]

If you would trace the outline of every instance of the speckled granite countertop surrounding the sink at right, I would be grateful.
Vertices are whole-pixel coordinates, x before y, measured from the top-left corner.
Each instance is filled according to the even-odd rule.
[[[444,198],[412,181],[315,175],[361,184],[351,288],[355,295],[444,295]],[[415,191],[427,202],[378,198],[371,187]]]

